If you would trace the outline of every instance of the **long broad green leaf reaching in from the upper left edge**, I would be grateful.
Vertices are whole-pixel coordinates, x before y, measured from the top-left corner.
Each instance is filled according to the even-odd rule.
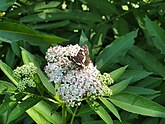
[[[40,34],[29,27],[13,22],[0,22],[0,39],[9,43],[25,40],[38,46],[66,41],[66,39],[57,36]]]

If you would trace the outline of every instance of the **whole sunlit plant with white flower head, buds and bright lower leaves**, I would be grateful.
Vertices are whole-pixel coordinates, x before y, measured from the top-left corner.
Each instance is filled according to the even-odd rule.
[[[110,73],[99,71],[89,57],[87,45],[49,47],[43,69],[36,57],[23,48],[22,59],[25,64],[13,71],[0,61],[1,70],[16,86],[0,81],[0,93],[11,96],[0,105],[0,114],[9,110],[7,124],[24,112],[38,124],[81,123],[77,120],[90,110],[107,124],[113,124],[109,112],[122,122],[113,104],[128,112],[164,117],[164,107],[125,90],[131,77],[114,83],[127,66]]]

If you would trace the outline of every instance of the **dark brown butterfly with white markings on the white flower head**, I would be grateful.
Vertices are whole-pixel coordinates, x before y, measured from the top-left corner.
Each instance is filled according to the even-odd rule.
[[[88,66],[90,63],[90,58],[88,57],[89,50],[88,46],[82,46],[76,56],[68,56],[68,59],[73,62],[79,69],[83,69],[85,66]]]

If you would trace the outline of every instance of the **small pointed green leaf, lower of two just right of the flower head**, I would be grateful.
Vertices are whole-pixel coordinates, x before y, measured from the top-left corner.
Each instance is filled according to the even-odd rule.
[[[112,90],[113,95],[120,93],[121,91],[123,91],[129,84],[129,82],[131,81],[132,78],[123,80],[117,84],[114,84],[113,86],[110,87],[110,89]]]

